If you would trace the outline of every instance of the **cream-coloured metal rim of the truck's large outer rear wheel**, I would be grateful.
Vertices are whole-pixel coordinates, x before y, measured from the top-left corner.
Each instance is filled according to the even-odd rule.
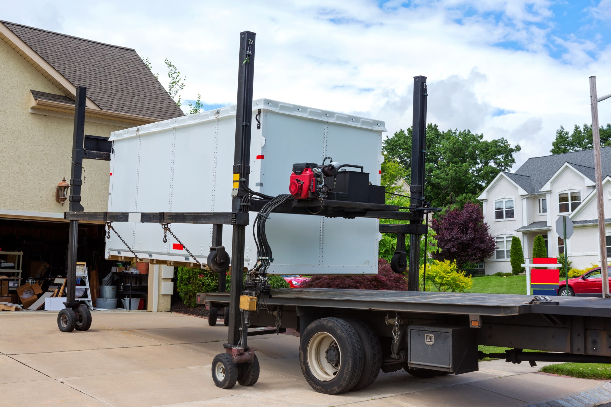
[[[335,363],[332,364],[327,360],[327,351],[337,352],[337,358],[332,359],[335,360]],[[312,375],[320,381],[329,381],[335,378],[342,366],[342,351],[337,344],[337,340],[326,332],[316,333],[310,339],[307,344],[306,355]]]

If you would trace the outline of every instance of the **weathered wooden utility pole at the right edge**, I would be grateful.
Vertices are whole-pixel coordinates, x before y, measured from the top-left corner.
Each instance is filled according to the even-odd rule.
[[[592,107],[592,139],[594,143],[594,171],[596,175],[596,209],[598,211],[598,238],[601,250],[602,298],[609,298],[609,276],[607,276],[607,233],[605,228],[605,207],[602,200],[601,138],[598,128],[598,102],[611,95],[598,99],[596,96],[596,76],[590,76],[590,104]],[[566,254],[565,254],[566,256]]]

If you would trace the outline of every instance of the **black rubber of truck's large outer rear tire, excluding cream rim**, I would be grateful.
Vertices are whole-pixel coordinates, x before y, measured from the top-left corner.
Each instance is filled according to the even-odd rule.
[[[342,353],[342,360],[337,374],[329,381],[317,379],[310,370],[306,360],[307,345],[312,337],[319,332],[331,334]],[[305,328],[299,342],[299,364],[305,381],[312,388],[323,394],[340,394],[354,387],[363,371],[363,347],[359,334],[347,321],[340,318],[317,319]]]

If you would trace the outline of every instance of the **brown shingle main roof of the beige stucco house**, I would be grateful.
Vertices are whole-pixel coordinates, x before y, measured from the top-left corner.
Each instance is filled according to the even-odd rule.
[[[100,109],[166,120],[184,115],[136,51],[2,21]]]

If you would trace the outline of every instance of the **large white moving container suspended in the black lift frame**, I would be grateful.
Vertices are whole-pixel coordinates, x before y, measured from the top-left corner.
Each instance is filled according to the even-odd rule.
[[[379,185],[383,121],[269,99],[253,101],[252,109],[251,189],[274,196],[288,193],[294,163],[322,164],[327,156],[340,164],[363,165],[371,183]],[[231,212],[235,112],[234,105],[113,132],[108,211]],[[251,212],[250,225],[255,215]],[[250,225],[244,253],[249,268],[257,258]],[[170,234],[163,242],[161,225],[113,226],[142,258],[193,262]],[[175,223],[170,228],[205,264],[212,226]],[[377,219],[272,214],[266,231],[274,258],[269,273],[378,272]],[[223,227],[223,245],[230,253],[230,225]],[[106,241],[106,257],[111,255],[131,256],[112,233]]]

